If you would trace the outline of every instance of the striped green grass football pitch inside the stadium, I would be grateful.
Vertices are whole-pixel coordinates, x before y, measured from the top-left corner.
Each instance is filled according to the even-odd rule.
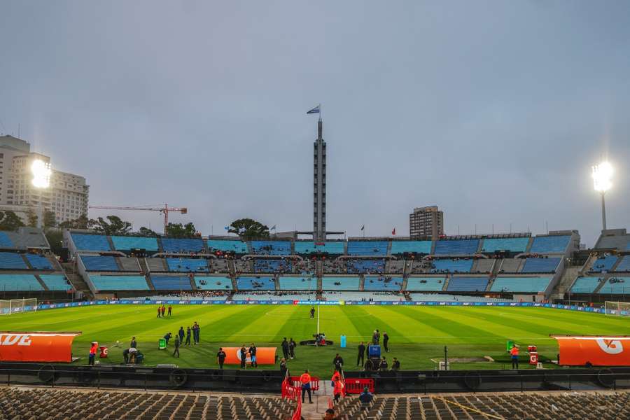
[[[316,321],[309,319],[310,307],[304,305],[174,305],[170,318],[157,318],[154,305],[110,305],[52,309],[36,313],[15,314],[0,318],[0,330],[13,331],[81,331],[73,344],[76,363],[87,363],[90,342],[113,344],[109,358],[102,363],[122,363],[122,351],[132,335],[146,356],[146,365],[176,363],[181,367],[216,367],[219,346],[240,346],[255,342],[257,346],[278,346],[283,337],[296,342],[309,339]],[[181,358],[172,358],[169,350],[158,350],[158,338],[166,332],[176,334],[197,321],[201,325],[201,344],[183,346]],[[451,369],[500,369],[510,363],[505,342],[535,344],[542,360],[554,359],[557,345],[549,334],[630,334],[630,320],[601,314],[562,311],[545,308],[512,307],[398,307],[398,306],[327,306],[321,307],[321,330],[335,344],[325,348],[298,346],[289,368],[297,373],[308,368],[328,377],[332,358],[339,352],[346,370],[356,365],[356,346],[368,341],[372,330],[388,332],[390,353],[400,359],[402,369],[433,370],[431,358],[442,358],[444,345],[449,358],[491,356],[495,363],[452,363]],[[348,347],[339,348],[339,336],[346,335]],[[98,360],[98,359],[97,359]],[[521,366],[527,356],[521,353]],[[259,367],[270,369],[272,367]],[[276,367],[277,368],[277,365]]]

